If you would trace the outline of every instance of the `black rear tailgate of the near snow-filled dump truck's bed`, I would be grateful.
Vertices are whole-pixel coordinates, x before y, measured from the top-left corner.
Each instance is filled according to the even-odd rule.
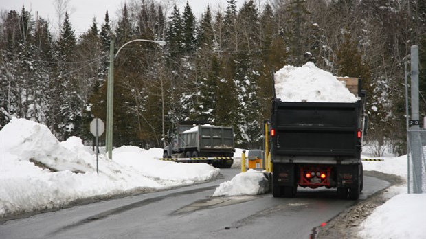
[[[361,101],[280,102],[273,105],[273,155],[359,157]]]

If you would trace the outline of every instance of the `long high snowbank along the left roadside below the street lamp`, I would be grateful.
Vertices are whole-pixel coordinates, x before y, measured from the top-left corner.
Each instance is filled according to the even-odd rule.
[[[124,146],[113,161],[88,152],[81,139],[59,142],[47,126],[12,119],[0,131],[0,216],[63,207],[92,197],[142,192],[210,180],[220,170],[205,163],[155,159],[161,148]]]

